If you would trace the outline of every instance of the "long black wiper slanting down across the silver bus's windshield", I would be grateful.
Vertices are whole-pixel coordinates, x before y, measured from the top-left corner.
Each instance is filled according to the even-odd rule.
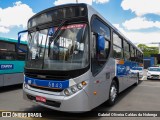
[[[51,36],[52,39],[49,39],[49,42],[48,42],[48,56],[50,54],[50,47],[51,47],[51,43],[53,42],[53,40],[55,40],[57,37],[58,37],[58,33],[59,33],[59,30],[62,28],[62,26],[67,22],[67,20],[63,20],[61,22],[61,24],[58,26],[58,29],[56,30],[56,32]],[[49,29],[48,29],[49,30]],[[49,34],[49,32],[48,32]]]

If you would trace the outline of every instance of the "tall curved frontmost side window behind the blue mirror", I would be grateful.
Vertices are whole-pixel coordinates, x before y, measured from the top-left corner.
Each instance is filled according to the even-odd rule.
[[[110,28],[95,18],[92,20],[92,32],[92,73],[96,75],[103,69],[109,55]]]

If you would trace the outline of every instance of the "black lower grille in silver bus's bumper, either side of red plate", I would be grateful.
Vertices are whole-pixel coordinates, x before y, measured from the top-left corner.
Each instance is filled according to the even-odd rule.
[[[31,95],[27,95],[28,99],[30,100],[35,100],[36,101],[36,97],[34,96],[31,96]],[[56,102],[56,101],[51,101],[51,100],[46,100],[45,103],[43,103],[45,105],[48,105],[48,106],[53,106],[53,107],[57,107],[59,108],[61,103],[60,102]]]

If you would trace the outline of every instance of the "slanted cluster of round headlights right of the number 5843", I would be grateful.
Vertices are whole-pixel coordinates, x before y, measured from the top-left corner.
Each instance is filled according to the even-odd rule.
[[[64,92],[64,94],[65,94],[66,96],[70,96],[70,95],[72,95],[72,94],[80,91],[80,90],[81,90],[84,86],[86,86],[86,85],[87,85],[87,82],[86,82],[86,81],[83,81],[83,82],[81,82],[81,83],[78,83],[78,84],[76,84],[76,85],[71,86],[70,88],[64,89],[63,92]]]

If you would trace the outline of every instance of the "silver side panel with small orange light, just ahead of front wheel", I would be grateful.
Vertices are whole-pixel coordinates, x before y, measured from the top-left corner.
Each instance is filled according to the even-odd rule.
[[[115,60],[109,58],[103,70],[98,73],[91,81],[90,101],[92,109],[104,103],[109,98],[109,90],[112,79],[115,76]]]

